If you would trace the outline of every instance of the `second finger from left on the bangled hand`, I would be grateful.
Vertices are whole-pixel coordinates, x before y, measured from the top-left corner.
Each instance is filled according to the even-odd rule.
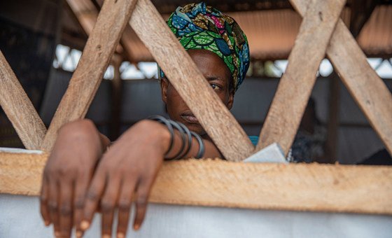
[[[108,184],[106,186],[104,196],[101,200],[101,213],[102,213],[102,237],[111,237],[111,228],[113,226],[114,209],[118,198],[120,189],[120,176],[119,174],[109,175]]]

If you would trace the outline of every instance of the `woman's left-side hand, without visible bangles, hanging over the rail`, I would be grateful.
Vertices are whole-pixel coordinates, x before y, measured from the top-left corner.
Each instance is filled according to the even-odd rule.
[[[41,215],[56,237],[70,237],[83,216],[85,193],[108,139],[90,120],[64,125],[43,171]]]

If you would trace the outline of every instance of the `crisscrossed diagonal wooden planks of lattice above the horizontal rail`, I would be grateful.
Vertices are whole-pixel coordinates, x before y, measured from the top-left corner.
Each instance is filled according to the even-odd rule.
[[[104,1],[48,132],[1,53],[0,104],[26,148],[50,151],[59,127],[87,113],[120,38],[127,37],[123,31],[129,23],[228,160],[243,160],[274,142],[288,153],[325,53],[392,154],[392,95],[339,19],[345,1],[290,2],[303,16],[302,25],[256,147],[150,0]],[[125,50],[131,52],[130,45]]]

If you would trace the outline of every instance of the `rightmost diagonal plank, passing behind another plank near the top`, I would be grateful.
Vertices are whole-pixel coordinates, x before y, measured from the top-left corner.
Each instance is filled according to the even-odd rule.
[[[292,0],[304,15],[307,3]],[[392,155],[392,94],[367,63],[366,56],[342,20],[337,22],[327,55],[344,85]]]

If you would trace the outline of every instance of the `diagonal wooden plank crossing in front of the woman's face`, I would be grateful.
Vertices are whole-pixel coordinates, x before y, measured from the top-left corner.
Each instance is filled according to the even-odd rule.
[[[254,146],[150,0],[139,0],[130,25],[165,71],[225,158],[243,160]]]

